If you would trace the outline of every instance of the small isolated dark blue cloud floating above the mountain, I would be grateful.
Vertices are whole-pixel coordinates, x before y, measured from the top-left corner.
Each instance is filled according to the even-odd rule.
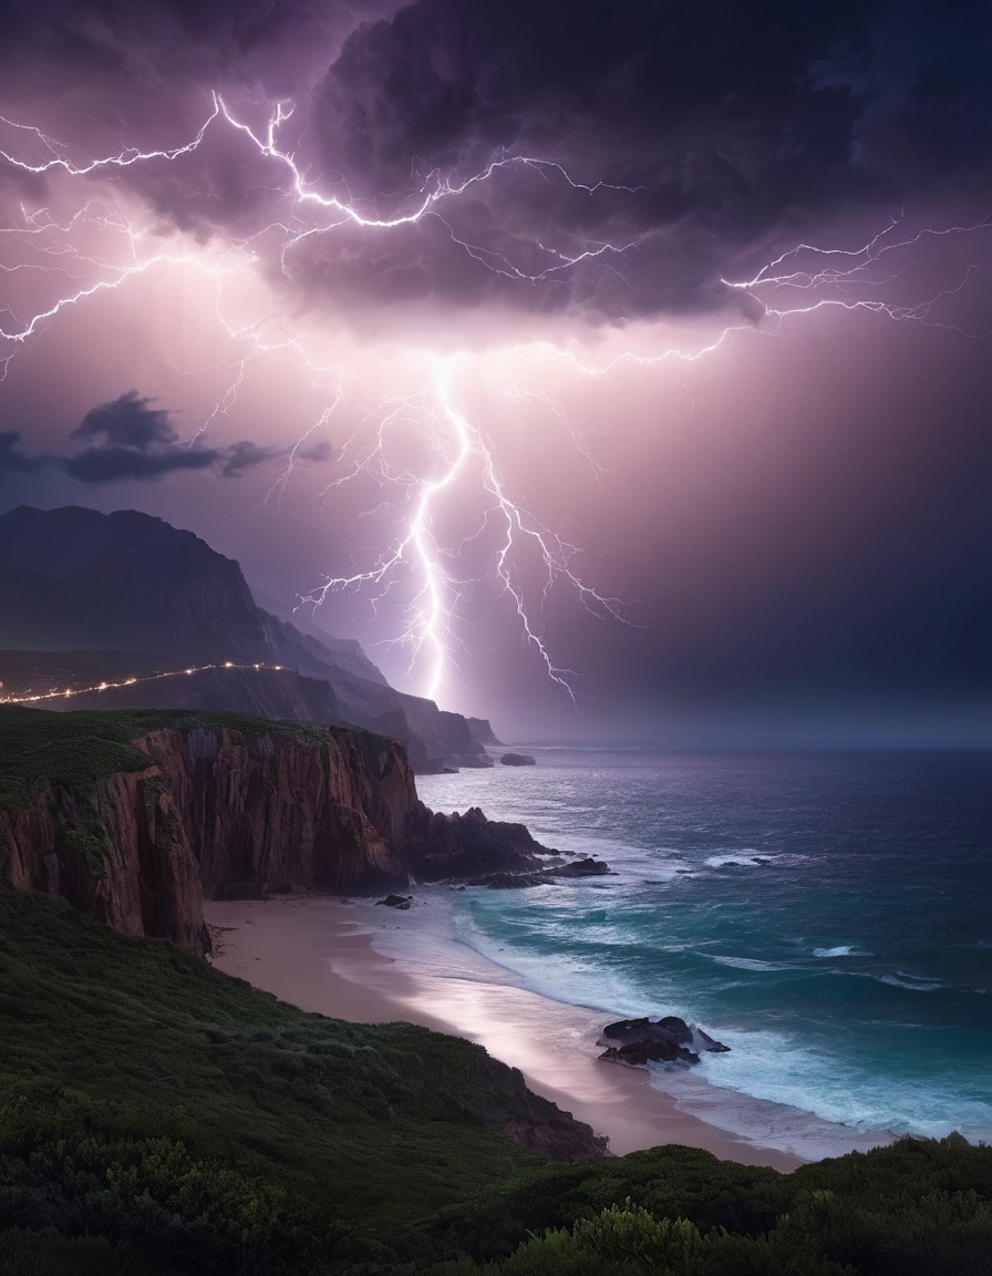
[[[59,463],[65,472],[87,484],[122,478],[156,480],[168,473],[190,471],[213,471],[222,478],[240,478],[249,470],[289,456],[287,448],[260,447],[247,440],[226,448],[210,448],[199,441],[184,444],[170,413],[152,407],[152,399],[143,398],[138,390],[128,390],[112,402],[101,403],[87,412],[70,438],[101,441],[74,457],[60,458]],[[0,472],[4,438],[0,435]],[[297,448],[293,461],[320,462],[330,456],[330,444],[323,441]]]

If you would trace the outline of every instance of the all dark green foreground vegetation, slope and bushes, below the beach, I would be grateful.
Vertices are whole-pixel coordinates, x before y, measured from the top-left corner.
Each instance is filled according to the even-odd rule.
[[[518,1073],[0,888],[0,1272],[988,1276],[992,1150],[542,1165]]]

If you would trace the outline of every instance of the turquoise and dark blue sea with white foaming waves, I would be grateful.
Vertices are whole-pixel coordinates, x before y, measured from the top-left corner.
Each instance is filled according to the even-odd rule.
[[[615,875],[451,893],[455,938],[604,1022],[700,1023],[731,1053],[657,1079],[755,1142],[992,1141],[992,754],[522,748],[421,796]]]

